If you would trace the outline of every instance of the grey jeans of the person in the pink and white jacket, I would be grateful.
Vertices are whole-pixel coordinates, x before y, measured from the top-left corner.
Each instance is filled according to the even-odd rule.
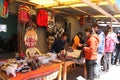
[[[103,69],[104,71],[108,71],[111,65],[111,52],[107,52],[104,55],[104,63],[103,63]]]

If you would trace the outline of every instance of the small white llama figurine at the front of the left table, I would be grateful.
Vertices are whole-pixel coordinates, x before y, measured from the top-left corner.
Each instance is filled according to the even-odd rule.
[[[16,63],[11,63],[9,66],[7,66],[6,68],[7,75],[9,76],[10,74],[12,74],[15,77],[17,67],[18,65]]]

